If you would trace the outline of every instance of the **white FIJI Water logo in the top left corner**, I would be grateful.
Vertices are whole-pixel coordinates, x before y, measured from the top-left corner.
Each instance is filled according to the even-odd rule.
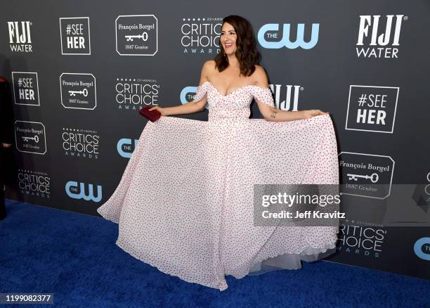
[[[33,52],[31,26],[32,23],[30,21],[8,21],[9,46],[11,46],[11,51],[21,53]]]

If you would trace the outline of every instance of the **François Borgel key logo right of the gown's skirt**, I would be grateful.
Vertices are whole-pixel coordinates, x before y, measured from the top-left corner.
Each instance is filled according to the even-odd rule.
[[[342,194],[385,199],[390,195],[394,160],[389,156],[339,153]]]

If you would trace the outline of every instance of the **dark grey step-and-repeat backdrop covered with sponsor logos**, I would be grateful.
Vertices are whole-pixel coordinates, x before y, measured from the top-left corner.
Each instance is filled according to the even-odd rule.
[[[424,0],[4,4],[16,167],[7,198],[98,215],[147,123],[138,110],[193,101],[230,14],[252,23],[279,109],[331,114],[347,219],[328,260],[430,278]],[[178,117],[205,121],[207,109]]]

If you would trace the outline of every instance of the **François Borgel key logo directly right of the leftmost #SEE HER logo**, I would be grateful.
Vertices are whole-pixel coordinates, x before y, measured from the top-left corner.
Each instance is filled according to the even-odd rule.
[[[96,77],[93,74],[63,72],[60,91],[64,108],[93,110],[97,106]]]

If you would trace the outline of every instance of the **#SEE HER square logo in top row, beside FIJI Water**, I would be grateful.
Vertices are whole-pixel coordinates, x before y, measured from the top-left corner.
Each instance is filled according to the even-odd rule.
[[[91,55],[89,17],[60,18],[62,55]]]

